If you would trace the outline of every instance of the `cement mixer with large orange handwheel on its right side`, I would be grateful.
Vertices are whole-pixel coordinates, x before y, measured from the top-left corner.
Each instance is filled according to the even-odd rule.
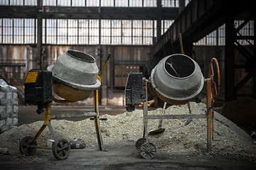
[[[217,86],[213,81],[213,63],[217,69]],[[137,151],[145,159],[152,159],[156,154],[156,147],[148,139],[149,119],[193,119],[207,118],[207,151],[210,152],[213,138],[213,101],[218,98],[220,91],[220,71],[218,61],[213,58],[210,61],[208,78],[204,79],[198,64],[183,54],[174,54],[164,57],[156,67],[152,69],[149,79],[142,76],[142,72],[130,73],[125,88],[127,111],[134,111],[136,105],[143,102],[144,134],[136,142]],[[189,115],[149,115],[148,91],[158,96],[162,101],[171,105],[183,105],[189,103],[203,89],[204,82],[207,86],[207,113]],[[213,94],[215,91],[215,94]],[[163,110],[165,109],[164,108]],[[189,105],[188,105],[189,106]]]

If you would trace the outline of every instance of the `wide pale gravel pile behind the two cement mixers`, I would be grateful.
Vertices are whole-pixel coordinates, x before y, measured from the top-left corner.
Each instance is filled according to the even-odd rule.
[[[149,114],[160,114],[162,108],[149,111]],[[193,114],[206,113],[206,104],[191,102]],[[169,106],[166,114],[189,114],[188,106]],[[143,111],[136,109],[119,115],[102,115],[100,128],[103,145],[134,145],[143,135]],[[256,161],[256,144],[245,131],[219,113],[214,113],[214,140],[212,152],[207,153],[206,118],[193,119],[186,124],[186,119],[164,119],[162,128],[165,131],[158,135],[149,135],[149,142],[156,146],[156,152],[174,154],[210,154],[246,158]],[[9,154],[0,154],[0,159],[24,159],[25,161],[44,161],[44,157],[26,157],[18,151],[19,141],[28,135],[34,136],[43,125],[43,121],[21,125],[0,135],[0,148],[8,148]],[[85,145],[97,147],[97,135],[93,120],[80,121],[51,120],[55,135],[66,140],[82,140]],[[159,120],[149,119],[148,130],[156,130]],[[43,130],[37,142],[46,145],[46,140],[53,139],[48,128]]]

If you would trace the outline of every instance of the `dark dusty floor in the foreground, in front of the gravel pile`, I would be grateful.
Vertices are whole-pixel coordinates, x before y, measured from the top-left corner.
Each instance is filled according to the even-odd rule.
[[[235,160],[229,157],[199,157],[186,154],[157,153],[154,159],[143,159],[135,151],[133,145],[106,147],[107,152],[100,151],[97,147],[71,149],[68,159],[61,161],[55,159],[50,150],[38,150],[31,157],[48,157],[48,162],[1,161],[0,169],[256,169],[256,164],[253,162]]]

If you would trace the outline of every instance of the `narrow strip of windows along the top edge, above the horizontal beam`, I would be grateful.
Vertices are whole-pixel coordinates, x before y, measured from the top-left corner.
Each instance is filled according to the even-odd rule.
[[[179,0],[161,0],[164,7],[178,7]],[[188,4],[190,0],[186,0]],[[43,6],[156,7],[157,0],[43,0]],[[37,0],[1,0],[4,6],[36,6]]]

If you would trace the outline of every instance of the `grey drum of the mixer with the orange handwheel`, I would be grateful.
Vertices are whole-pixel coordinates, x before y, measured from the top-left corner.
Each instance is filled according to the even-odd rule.
[[[181,105],[201,92],[204,77],[191,57],[175,54],[164,57],[152,69],[149,82],[162,101]]]

